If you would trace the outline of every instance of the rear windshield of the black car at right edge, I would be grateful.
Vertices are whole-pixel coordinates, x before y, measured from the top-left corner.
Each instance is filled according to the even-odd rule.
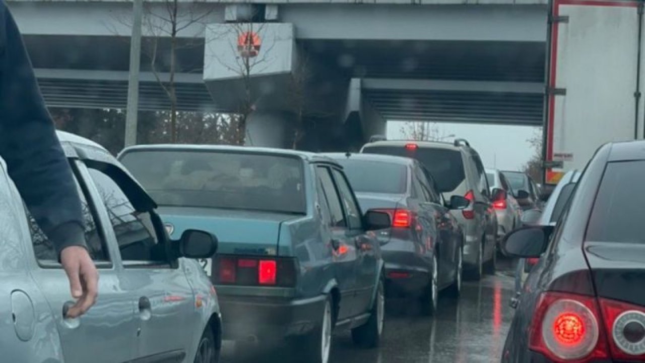
[[[593,203],[586,239],[645,244],[645,161],[609,163]]]

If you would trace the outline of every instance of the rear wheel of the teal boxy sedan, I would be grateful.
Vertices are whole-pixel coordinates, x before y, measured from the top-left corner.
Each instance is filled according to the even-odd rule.
[[[306,335],[304,344],[297,340],[293,344],[296,357],[301,357],[303,363],[328,363],[332,351],[333,311],[332,296],[327,296],[324,303],[323,316],[320,325],[313,333]],[[304,346],[304,349],[303,349]]]

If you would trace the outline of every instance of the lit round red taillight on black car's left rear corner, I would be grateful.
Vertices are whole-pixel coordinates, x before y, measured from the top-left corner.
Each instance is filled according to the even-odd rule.
[[[595,298],[544,293],[533,315],[529,348],[555,362],[591,362],[608,358]]]

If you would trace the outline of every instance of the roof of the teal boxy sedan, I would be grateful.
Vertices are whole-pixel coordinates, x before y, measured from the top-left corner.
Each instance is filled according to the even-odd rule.
[[[311,162],[332,162],[330,158],[314,152],[306,152],[290,149],[275,149],[271,147],[248,147],[248,146],[231,146],[231,145],[197,145],[197,144],[151,144],[151,145],[137,145],[126,147],[119,153],[117,158],[121,158],[123,154],[132,151],[142,150],[189,150],[189,151],[228,151],[228,152],[248,152],[255,154],[273,154],[280,156],[297,156],[305,161]]]

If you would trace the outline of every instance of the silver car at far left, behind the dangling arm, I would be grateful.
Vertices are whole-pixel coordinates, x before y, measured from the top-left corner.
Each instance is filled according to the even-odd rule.
[[[0,341],[3,362],[217,362],[217,295],[197,260],[214,236],[170,241],[155,202],[103,147],[60,132],[83,200],[99,298],[79,318],[50,241],[0,160]],[[61,206],[62,207],[62,206]]]

